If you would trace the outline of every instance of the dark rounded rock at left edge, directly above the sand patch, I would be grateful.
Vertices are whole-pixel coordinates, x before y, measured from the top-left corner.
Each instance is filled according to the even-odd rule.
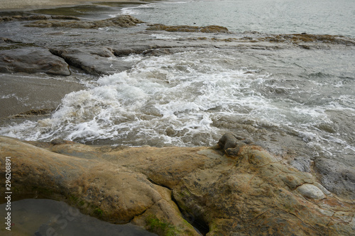
[[[40,47],[23,47],[13,50],[2,50],[0,55],[0,72],[28,74],[47,73],[70,75],[69,65],[60,57],[52,55]]]

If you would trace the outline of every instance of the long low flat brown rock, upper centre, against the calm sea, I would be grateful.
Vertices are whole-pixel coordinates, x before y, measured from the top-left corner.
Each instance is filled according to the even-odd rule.
[[[163,24],[151,24],[147,30],[165,30],[168,32],[229,33],[229,30],[223,26],[165,26]]]

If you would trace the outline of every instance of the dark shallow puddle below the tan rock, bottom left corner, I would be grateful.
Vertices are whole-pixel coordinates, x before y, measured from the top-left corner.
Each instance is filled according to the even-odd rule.
[[[6,204],[1,204],[0,215],[2,219],[5,218],[7,212],[9,211],[6,211]],[[11,231],[1,227],[0,235],[155,235],[136,225],[114,225],[89,215],[83,215],[67,203],[48,199],[14,201],[11,203],[10,212]]]

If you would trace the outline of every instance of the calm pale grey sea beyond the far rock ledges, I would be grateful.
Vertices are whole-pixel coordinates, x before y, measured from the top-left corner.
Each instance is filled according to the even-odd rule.
[[[355,37],[354,0],[165,1],[123,9],[150,23],[219,25],[235,32]]]

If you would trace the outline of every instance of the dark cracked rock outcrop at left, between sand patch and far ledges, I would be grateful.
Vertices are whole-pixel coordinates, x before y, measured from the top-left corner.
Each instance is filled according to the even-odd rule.
[[[2,38],[4,42],[13,44],[13,40]],[[167,48],[152,48],[149,45],[134,47],[70,47],[51,48],[20,47],[2,50],[0,56],[0,72],[2,73],[47,73],[70,75],[70,68],[77,67],[94,76],[109,75],[131,69],[131,62],[118,60],[130,54],[166,55],[171,54]]]

